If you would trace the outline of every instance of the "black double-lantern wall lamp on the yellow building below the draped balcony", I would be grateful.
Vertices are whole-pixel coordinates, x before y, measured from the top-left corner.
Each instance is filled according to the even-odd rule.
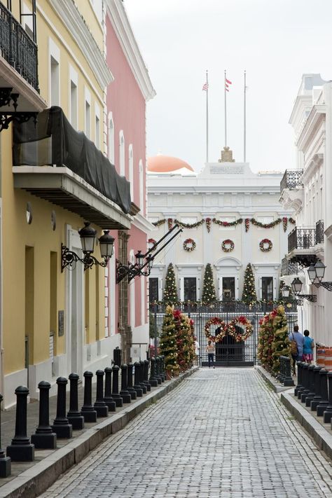
[[[99,247],[100,247],[100,255],[103,258],[103,261],[98,261],[95,256],[92,256],[92,252],[95,249],[95,238],[96,238],[96,230],[90,226],[88,221],[84,222],[85,226],[78,231],[81,237],[83,258],[80,258],[74,251],[69,251],[68,247],[61,244],[61,271],[63,272],[64,268],[67,266],[71,266],[71,269],[75,268],[76,262],[80,261],[84,265],[84,270],[88,268],[92,268],[93,265],[106,266],[109,262],[109,258],[111,258],[113,254],[113,244],[114,239],[109,235],[109,230],[104,230],[104,235],[99,237]]]

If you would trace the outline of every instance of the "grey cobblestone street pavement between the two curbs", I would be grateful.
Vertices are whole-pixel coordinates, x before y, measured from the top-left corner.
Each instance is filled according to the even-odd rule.
[[[253,368],[201,368],[42,496],[331,498],[331,477]]]

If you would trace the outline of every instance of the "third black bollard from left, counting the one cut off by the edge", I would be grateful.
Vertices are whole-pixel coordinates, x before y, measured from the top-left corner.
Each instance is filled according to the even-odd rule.
[[[39,426],[32,434],[31,442],[40,450],[57,448],[57,434],[50,427],[50,382],[39,382]]]

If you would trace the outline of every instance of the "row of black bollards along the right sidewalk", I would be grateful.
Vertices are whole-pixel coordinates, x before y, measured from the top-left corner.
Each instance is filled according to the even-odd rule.
[[[332,371],[302,361],[298,361],[297,366],[295,396],[315,411],[318,417],[324,417],[325,424],[331,423],[332,428]]]

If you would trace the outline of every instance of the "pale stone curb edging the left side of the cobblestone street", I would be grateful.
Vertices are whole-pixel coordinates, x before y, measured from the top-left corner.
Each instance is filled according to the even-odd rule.
[[[74,466],[94,450],[104,438],[116,434],[127,425],[130,420],[139,415],[151,403],[168,394],[177,387],[182,380],[192,375],[199,368],[197,366],[191,370],[181,373],[179,378],[173,378],[167,385],[161,385],[153,392],[144,395],[143,399],[134,401],[120,413],[109,416],[103,422],[99,422],[94,427],[87,429],[81,436],[78,436],[63,448],[55,450],[51,455],[34,464],[26,471],[20,473],[18,477],[0,487],[1,498],[35,498],[43,493],[55,483],[57,478]],[[38,450],[36,450],[37,452]]]

